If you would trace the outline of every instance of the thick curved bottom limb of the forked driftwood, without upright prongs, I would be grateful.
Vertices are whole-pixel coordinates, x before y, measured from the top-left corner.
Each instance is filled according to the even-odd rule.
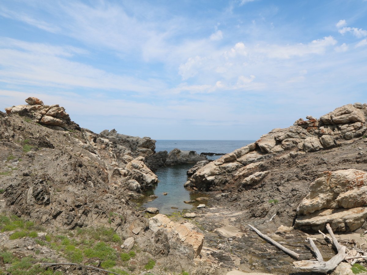
[[[295,267],[301,269],[307,269],[308,271],[326,273],[330,270],[335,269],[338,266],[338,264],[344,261],[345,257],[347,256],[347,254],[345,253],[345,249],[346,247],[342,246],[338,254],[336,254],[333,258],[331,258],[327,262],[304,260],[304,261],[295,261],[293,262],[293,264]]]

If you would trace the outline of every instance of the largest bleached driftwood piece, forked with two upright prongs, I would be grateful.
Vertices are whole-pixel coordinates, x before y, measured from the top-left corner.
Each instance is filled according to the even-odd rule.
[[[327,239],[331,239],[331,241],[333,242],[333,245],[338,250],[338,254],[336,254],[333,258],[331,258],[328,261],[323,261],[323,258],[321,256],[319,249],[317,249],[315,243],[313,243],[312,240],[308,238],[311,244],[311,247],[313,248],[313,250],[316,253],[317,261],[313,261],[313,260],[296,261],[293,263],[295,267],[298,267],[301,269],[307,269],[313,272],[326,273],[330,270],[335,269],[342,261],[345,260],[345,258],[348,256],[348,254],[345,253],[346,247],[338,243],[338,240],[337,238],[335,238],[334,232],[331,229],[330,224],[326,225],[326,229],[329,232],[330,237],[331,237],[331,238],[327,237]],[[324,238],[326,238],[325,236]],[[313,245],[311,242],[313,243]]]

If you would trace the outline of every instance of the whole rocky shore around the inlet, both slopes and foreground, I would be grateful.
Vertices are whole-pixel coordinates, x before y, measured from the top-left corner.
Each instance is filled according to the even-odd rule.
[[[209,161],[192,151],[156,152],[149,137],[94,133],[56,104],[26,103],[0,113],[4,272],[315,274],[248,224],[298,260],[315,256],[305,241],[313,238],[328,260],[336,251],[319,230],[327,233],[329,223],[364,265],[367,104],[301,118]],[[154,172],[186,163],[193,167],[184,186],[205,207],[188,207],[193,218],[147,213],[137,202],[159,186]],[[330,272],[353,274],[353,261]]]

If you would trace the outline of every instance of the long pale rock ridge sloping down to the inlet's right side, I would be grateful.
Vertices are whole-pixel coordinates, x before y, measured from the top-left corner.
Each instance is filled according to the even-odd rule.
[[[226,190],[231,186],[243,187],[248,173],[239,171],[266,158],[288,159],[299,154],[326,150],[339,146],[367,131],[367,104],[348,104],[316,119],[310,115],[300,118],[293,126],[273,129],[255,143],[226,154],[214,162],[196,166],[190,171],[186,187],[203,191]],[[262,172],[250,169],[252,173]],[[193,172],[193,173],[192,173]],[[254,174],[257,177],[257,174]],[[246,185],[246,184],[245,184]]]

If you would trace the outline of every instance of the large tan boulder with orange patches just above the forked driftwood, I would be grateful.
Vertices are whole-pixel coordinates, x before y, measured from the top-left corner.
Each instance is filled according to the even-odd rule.
[[[295,224],[316,230],[328,222],[336,231],[355,230],[367,216],[366,191],[367,173],[364,171],[348,169],[320,173],[297,208]]]

